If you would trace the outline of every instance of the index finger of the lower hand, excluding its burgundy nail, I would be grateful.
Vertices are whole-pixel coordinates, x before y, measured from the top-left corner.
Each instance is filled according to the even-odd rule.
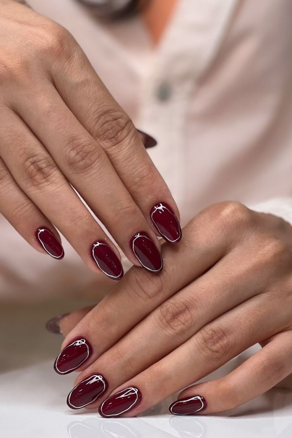
[[[204,232],[200,231],[201,221],[205,225]],[[123,284],[118,284],[70,332],[62,348],[77,338],[87,339],[92,345],[92,356],[88,358],[86,366],[84,364],[83,367],[78,368],[79,371],[94,362],[159,304],[203,274],[224,256],[230,242],[224,235],[216,240],[212,232],[213,226],[214,221],[208,224],[206,216],[199,215],[184,229],[188,239],[182,240],[180,244],[179,258],[178,248],[175,245],[162,245],[165,269],[160,276],[149,276],[144,270],[135,267],[130,269],[123,279]],[[192,268],[190,269],[189,266]],[[116,309],[123,309],[119,331],[116,330],[119,322]],[[65,364],[63,365],[65,367]]]

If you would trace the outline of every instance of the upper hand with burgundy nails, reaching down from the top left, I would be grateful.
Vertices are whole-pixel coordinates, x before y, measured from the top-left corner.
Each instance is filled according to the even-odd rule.
[[[130,261],[159,272],[156,234],[180,238],[175,202],[72,35],[0,0],[0,89],[0,212],[60,259],[54,224],[89,268],[120,279],[120,254],[79,193]]]

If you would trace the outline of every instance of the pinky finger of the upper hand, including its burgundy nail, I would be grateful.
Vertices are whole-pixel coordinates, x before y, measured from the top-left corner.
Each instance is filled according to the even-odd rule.
[[[61,259],[64,250],[55,227],[15,182],[0,159],[0,213],[37,251]]]

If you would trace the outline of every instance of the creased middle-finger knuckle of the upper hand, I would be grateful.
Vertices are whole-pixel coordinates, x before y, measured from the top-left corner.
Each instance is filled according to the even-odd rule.
[[[89,139],[72,137],[67,140],[64,150],[67,154],[68,166],[74,173],[88,172],[102,159],[99,146]]]

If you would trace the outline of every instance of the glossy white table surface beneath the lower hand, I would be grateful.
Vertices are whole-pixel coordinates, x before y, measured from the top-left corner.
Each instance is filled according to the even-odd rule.
[[[231,365],[232,366],[232,365]],[[228,372],[230,364],[218,373]],[[137,418],[103,419],[72,411],[66,397],[74,375],[53,372],[52,361],[0,375],[0,436],[9,438],[291,438],[292,392],[273,389],[230,412],[176,417],[171,399]],[[210,378],[210,376],[209,376]]]

